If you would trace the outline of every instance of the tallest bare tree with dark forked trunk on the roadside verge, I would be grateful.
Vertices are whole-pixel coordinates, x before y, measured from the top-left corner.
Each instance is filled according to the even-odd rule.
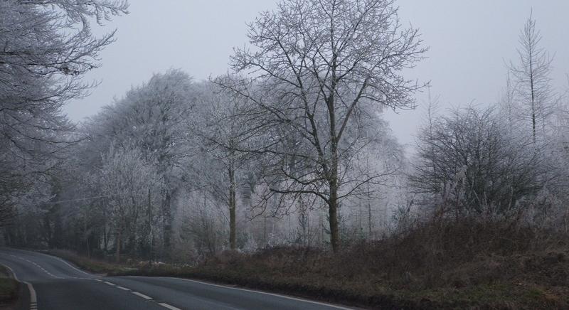
[[[253,50],[236,49],[231,65],[250,79],[216,82],[250,100],[249,121],[272,135],[257,149],[280,156],[270,191],[321,198],[337,251],[340,201],[378,177],[344,178],[366,129],[383,107],[413,107],[422,86],[401,75],[425,52],[418,31],[401,27],[393,0],[285,0],[248,38]]]

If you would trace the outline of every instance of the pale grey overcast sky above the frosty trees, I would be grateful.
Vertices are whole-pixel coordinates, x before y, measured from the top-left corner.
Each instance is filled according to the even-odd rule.
[[[130,14],[108,22],[117,28],[117,42],[100,55],[102,67],[87,75],[101,84],[89,97],[65,108],[80,121],[121,97],[152,73],[181,68],[196,80],[228,70],[234,46],[247,43],[245,22],[259,11],[273,9],[274,0],[130,0]],[[569,73],[569,0],[398,0],[400,18],[420,28],[427,59],[408,73],[430,81],[442,109],[496,102],[506,80],[505,61],[516,60],[519,31],[533,9],[542,47],[553,54],[553,84],[567,87]],[[412,146],[425,112],[419,107],[385,119],[402,144]]]

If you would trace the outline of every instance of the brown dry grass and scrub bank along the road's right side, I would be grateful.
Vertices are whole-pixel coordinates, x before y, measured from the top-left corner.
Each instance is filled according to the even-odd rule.
[[[569,309],[569,242],[554,232],[472,220],[418,225],[336,255],[273,247],[197,267],[115,274],[193,277],[381,309]]]

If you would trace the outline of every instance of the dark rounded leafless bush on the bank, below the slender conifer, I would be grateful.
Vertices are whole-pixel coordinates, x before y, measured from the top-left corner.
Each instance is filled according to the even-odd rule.
[[[512,215],[543,186],[541,154],[526,137],[493,109],[454,110],[422,130],[410,181],[441,213]]]

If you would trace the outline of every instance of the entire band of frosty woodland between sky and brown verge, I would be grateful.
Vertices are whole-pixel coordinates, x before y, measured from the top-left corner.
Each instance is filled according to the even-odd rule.
[[[250,23],[227,75],[155,74],[72,124],[60,108],[96,87],[82,76],[114,39],[89,21],[127,7],[0,3],[6,245],[187,262],[275,245],[337,252],[433,218],[568,232],[567,98],[531,17],[501,102],[425,102],[406,156],[381,113],[428,90],[403,76],[427,48],[395,1],[282,1]]]

